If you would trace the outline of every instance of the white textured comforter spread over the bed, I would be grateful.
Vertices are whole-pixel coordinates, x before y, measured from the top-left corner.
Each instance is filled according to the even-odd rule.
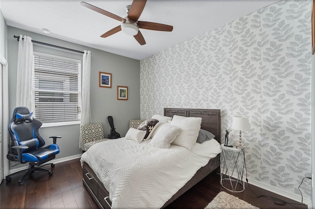
[[[150,141],[150,140],[149,140]],[[92,146],[81,157],[109,191],[112,208],[161,208],[209,159],[221,153],[212,139],[191,151],[160,149],[125,138]]]

